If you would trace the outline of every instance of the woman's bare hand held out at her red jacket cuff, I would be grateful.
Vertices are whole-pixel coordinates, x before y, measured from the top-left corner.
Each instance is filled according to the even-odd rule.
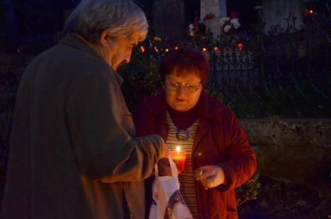
[[[224,171],[217,165],[199,167],[195,170],[194,177],[206,189],[218,187],[220,184],[225,183]]]

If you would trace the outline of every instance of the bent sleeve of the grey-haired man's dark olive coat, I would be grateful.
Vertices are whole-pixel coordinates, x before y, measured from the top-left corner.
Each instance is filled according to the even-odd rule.
[[[67,121],[82,174],[108,183],[149,177],[162,151],[161,138],[128,133],[128,124],[134,129],[132,117],[108,66],[81,61],[76,69]]]

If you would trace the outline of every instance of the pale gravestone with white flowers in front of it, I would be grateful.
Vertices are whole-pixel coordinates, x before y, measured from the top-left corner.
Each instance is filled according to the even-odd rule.
[[[214,18],[204,20],[209,30],[214,33],[214,37],[221,34],[219,19],[226,17],[226,0],[201,0],[200,1],[200,19],[203,20],[209,14]]]

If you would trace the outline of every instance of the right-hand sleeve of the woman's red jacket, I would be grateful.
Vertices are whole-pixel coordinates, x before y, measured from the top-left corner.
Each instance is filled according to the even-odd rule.
[[[219,166],[223,168],[226,186],[220,186],[218,189],[226,191],[236,189],[252,177],[256,169],[256,160],[248,138],[233,112],[226,110],[223,119],[227,160],[219,163]]]

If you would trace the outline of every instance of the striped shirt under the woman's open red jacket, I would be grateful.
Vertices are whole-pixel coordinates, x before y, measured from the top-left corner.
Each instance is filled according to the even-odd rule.
[[[182,141],[176,137],[178,129],[175,124],[173,124],[173,120],[171,119],[168,112],[167,121],[169,124],[169,132],[167,141],[165,142],[166,146],[168,146],[170,150],[175,150],[176,146],[180,146],[182,150],[186,151],[185,170],[178,174],[178,179],[180,182],[180,193],[184,197],[193,218],[199,218],[197,208],[197,194],[194,185],[194,172],[192,170],[193,141]],[[187,129],[187,131],[191,134],[192,139],[194,139],[195,133],[197,131],[197,124],[198,120]]]

